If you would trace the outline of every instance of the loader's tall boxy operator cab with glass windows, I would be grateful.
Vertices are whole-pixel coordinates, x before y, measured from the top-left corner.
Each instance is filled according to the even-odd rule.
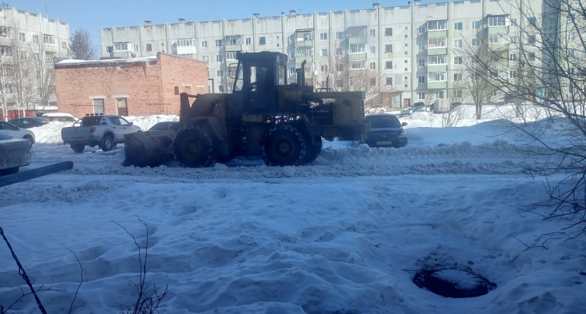
[[[234,101],[240,98],[245,113],[278,110],[277,87],[287,85],[287,55],[280,52],[238,52]],[[239,96],[240,95],[240,96]]]

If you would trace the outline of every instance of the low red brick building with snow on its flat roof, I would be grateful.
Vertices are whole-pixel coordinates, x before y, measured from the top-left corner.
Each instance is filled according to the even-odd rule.
[[[179,114],[179,94],[209,91],[207,63],[159,52],[140,59],[55,64],[59,112],[144,116]]]

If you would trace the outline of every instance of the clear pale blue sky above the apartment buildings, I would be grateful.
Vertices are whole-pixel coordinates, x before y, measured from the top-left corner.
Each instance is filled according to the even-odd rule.
[[[144,24],[145,20],[153,24],[176,23],[179,18],[186,21],[209,21],[253,17],[278,16],[281,12],[289,13],[292,8],[298,14],[357,10],[372,8],[373,2],[383,7],[407,6],[408,0],[248,0],[248,1],[196,1],[196,0],[15,0],[6,1],[8,7],[15,7],[31,13],[41,13],[43,17],[59,20],[69,24],[73,33],[77,29],[86,29],[91,35],[92,44],[100,44],[99,29],[126,27]],[[4,2],[4,3],[6,3]],[[441,1],[426,1],[441,2]],[[98,56],[99,57],[99,56]]]

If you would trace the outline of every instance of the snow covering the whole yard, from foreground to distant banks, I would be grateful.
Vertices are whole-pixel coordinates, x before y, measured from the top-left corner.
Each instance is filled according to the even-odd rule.
[[[22,170],[73,169],[0,188],[0,227],[36,288],[66,289],[38,292],[48,313],[68,313],[81,276],[72,313],[134,304],[133,237],[142,257],[148,240],[147,297],[168,284],[160,313],[582,313],[585,237],[520,209],[565,175],[528,172],[548,160],[523,154],[537,144],[500,109],[477,121],[461,106],[456,128],[414,112],[400,117],[407,147],[325,142],[299,167],[122,167],[121,145],[75,154],[60,138],[70,124],[51,122],[31,129]],[[177,119],[128,117],[143,130]],[[563,144],[565,121],[552,126],[542,140]],[[447,267],[497,287],[451,299],[412,283],[419,269]],[[3,242],[0,278],[1,306],[28,291]],[[11,310],[39,313],[31,295]]]

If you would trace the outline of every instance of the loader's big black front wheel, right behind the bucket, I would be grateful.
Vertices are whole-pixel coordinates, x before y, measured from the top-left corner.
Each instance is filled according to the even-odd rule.
[[[207,126],[188,124],[179,128],[173,137],[173,158],[181,167],[201,168],[216,160],[216,137]]]

